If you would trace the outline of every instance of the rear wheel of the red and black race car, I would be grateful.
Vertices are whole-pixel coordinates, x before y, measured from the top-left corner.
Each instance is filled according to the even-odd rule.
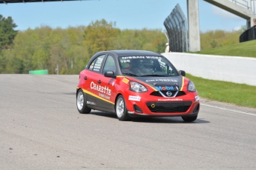
[[[85,93],[82,89],[79,89],[76,94],[76,107],[79,113],[88,114],[91,112],[91,108],[86,105]]]

